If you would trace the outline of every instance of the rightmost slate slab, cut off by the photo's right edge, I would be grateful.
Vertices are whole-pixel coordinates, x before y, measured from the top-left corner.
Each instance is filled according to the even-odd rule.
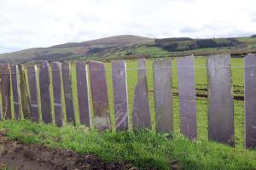
[[[256,147],[256,54],[244,58],[245,147]]]

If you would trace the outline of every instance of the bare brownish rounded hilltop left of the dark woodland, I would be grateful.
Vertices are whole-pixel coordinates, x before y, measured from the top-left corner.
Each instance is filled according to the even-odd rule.
[[[152,38],[132,35],[105,37],[86,42],[68,42],[49,48],[29,48],[13,53],[0,54],[0,60],[11,63],[25,63],[36,60],[64,60],[84,57],[114,48],[125,48],[132,45],[151,42]]]

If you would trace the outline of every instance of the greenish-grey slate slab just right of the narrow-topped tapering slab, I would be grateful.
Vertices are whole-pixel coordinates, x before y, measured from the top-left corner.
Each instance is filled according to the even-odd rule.
[[[154,109],[156,130],[173,131],[172,59],[154,59]]]

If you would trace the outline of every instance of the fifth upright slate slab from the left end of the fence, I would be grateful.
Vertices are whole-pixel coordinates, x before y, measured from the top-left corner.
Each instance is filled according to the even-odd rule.
[[[41,95],[42,119],[45,123],[52,122],[50,95],[49,95],[49,63],[44,61],[39,68],[39,84]]]

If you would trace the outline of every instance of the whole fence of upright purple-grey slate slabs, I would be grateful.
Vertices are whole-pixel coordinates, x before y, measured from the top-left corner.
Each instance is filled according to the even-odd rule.
[[[244,68],[245,147],[251,148],[256,147],[256,54],[247,54],[244,58]],[[131,127],[128,123],[129,102],[125,61],[112,62],[114,121],[111,121],[110,117],[104,63],[89,61],[87,66],[84,61],[77,61],[75,69],[77,87],[72,85],[69,61],[52,62],[51,65],[48,61],[44,61],[39,67],[37,65],[27,66],[28,80],[26,80],[24,65],[10,66],[8,62],[1,63],[0,84],[3,112],[0,112],[0,119],[12,118],[10,108],[13,105],[15,119],[21,118],[22,111],[24,118],[34,122],[42,120],[45,123],[52,123],[54,120],[55,125],[61,127],[64,125],[63,111],[65,110],[67,122],[75,124],[73,88],[77,88],[79,120],[87,127],[94,125],[96,129],[104,131],[111,130],[112,123],[115,123],[118,131],[128,130],[128,128],[134,130],[151,128],[150,113],[155,113],[156,131],[162,133],[173,131],[171,58],[154,59],[152,65],[155,111],[150,111],[148,104],[146,59],[138,59],[138,79],[131,111]],[[208,139],[234,145],[234,97],[230,54],[207,57],[207,80]],[[50,81],[52,81],[52,87],[50,87]],[[196,139],[194,56],[177,58],[177,82],[181,133],[189,139]],[[61,98],[61,87],[64,91],[64,100]],[[53,91],[53,99],[50,97],[50,90]],[[41,111],[38,107],[38,92],[40,92]],[[90,108],[90,94],[93,108]],[[51,107],[52,100],[53,108]],[[42,113],[42,118],[39,113]]]

